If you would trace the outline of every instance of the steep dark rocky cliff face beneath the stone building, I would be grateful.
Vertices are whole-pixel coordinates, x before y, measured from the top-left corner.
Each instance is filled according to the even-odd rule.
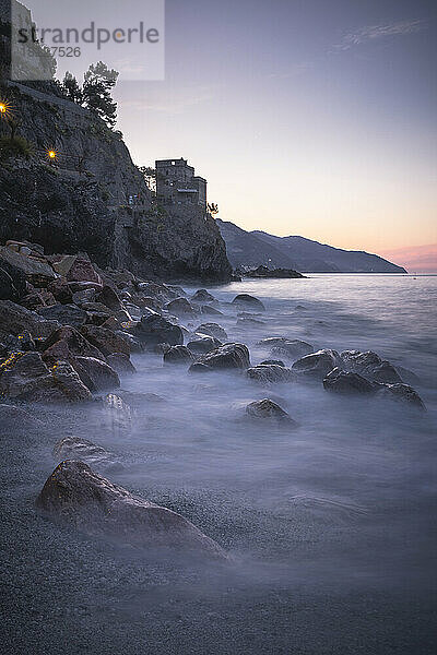
[[[34,155],[0,160],[0,241],[26,239],[48,253],[86,251],[101,266],[146,277],[229,278],[215,222],[155,206],[120,133],[51,83],[35,88],[4,82],[1,96]],[[3,121],[0,133],[7,132]]]

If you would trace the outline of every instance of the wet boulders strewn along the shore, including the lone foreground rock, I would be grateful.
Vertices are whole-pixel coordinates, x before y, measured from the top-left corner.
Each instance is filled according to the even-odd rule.
[[[86,254],[46,255],[38,245],[9,241],[0,248],[1,421],[12,426],[31,420],[35,403],[75,404],[78,412],[84,404],[104,403],[129,412],[144,398],[120,391],[120,378],[135,373],[130,357],[142,353],[162,358],[164,367],[184,367],[187,376],[201,380],[215,371],[246,377],[265,390],[264,398],[247,404],[246,420],[283,430],[297,429],[298,421],[274,397],[272,388],[281,383],[322,384],[345,398],[375,397],[425,409],[410,385],[418,382],[414,373],[373,352],[315,350],[304,341],[264,337],[255,348],[268,358],[252,364],[247,345],[229,343],[224,327],[212,322],[228,312],[240,326],[241,320],[262,325],[265,307],[248,294],[229,303],[206,289],[187,297],[180,287],[126,270],[102,270]],[[36,501],[54,520],[135,546],[153,544],[227,559],[182,516],[95,473],[96,463],[106,462],[109,474],[114,465],[97,444],[61,439],[54,452],[58,466]]]

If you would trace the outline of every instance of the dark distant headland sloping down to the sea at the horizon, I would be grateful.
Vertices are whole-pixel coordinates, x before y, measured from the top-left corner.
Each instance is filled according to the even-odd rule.
[[[304,237],[246,231],[217,219],[233,266],[294,269],[302,273],[406,273],[405,269],[364,251],[342,250]]]

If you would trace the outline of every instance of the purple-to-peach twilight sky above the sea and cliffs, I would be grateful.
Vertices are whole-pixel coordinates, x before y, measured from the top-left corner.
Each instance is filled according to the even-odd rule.
[[[165,15],[165,80],[121,74],[115,92],[135,164],[187,158],[245,229],[437,270],[435,1],[166,0]]]

